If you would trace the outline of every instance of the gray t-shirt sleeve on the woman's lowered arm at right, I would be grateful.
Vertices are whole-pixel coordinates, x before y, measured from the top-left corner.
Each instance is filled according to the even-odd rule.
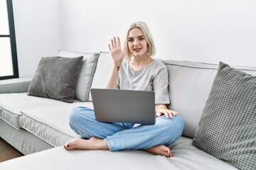
[[[156,104],[169,104],[169,92],[168,92],[168,85],[169,85],[169,77],[167,68],[161,67],[159,72],[156,73],[156,77],[153,81],[153,89],[155,92],[155,103]]]

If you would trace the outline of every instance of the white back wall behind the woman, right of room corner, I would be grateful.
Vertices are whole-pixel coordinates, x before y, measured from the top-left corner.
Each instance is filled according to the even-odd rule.
[[[105,51],[112,36],[144,21],[157,58],[255,66],[255,9],[254,0],[63,0],[61,47]]]

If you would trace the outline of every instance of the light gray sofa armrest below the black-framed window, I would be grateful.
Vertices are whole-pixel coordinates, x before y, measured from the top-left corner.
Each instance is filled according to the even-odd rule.
[[[32,77],[6,79],[0,81],[0,94],[25,93],[28,92],[28,86]]]

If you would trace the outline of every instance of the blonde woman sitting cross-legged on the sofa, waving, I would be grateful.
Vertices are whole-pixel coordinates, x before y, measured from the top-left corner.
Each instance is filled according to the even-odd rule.
[[[169,104],[168,72],[162,62],[151,58],[155,47],[148,26],[143,22],[132,23],[124,49],[119,38],[111,40],[109,49],[114,67],[107,88],[154,91],[156,123],[97,122],[92,109],[78,106],[70,111],[70,127],[89,140],[75,138],[64,145],[65,149],[144,149],[152,154],[171,157],[167,146],[181,136],[184,123],[178,113],[166,107]]]

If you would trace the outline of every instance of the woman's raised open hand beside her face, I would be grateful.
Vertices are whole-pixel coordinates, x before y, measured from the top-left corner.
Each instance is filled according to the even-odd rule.
[[[122,64],[122,60],[124,60],[124,55],[127,50],[127,46],[125,45],[124,49],[122,50],[120,38],[117,37],[116,39],[114,37],[111,40],[111,45],[109,44],[109,49],[114,60],[114,64],[116,65],[116,67],[120,67]]]

